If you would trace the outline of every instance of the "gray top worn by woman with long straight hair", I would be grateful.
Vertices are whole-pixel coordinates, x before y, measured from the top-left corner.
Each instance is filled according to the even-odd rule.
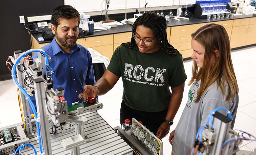
[[[226,93],[223,95],[215,82],[205,91],[199,102],[195,103],[200,83],[201,80],[195,81],[190,87],[187,104],[175,129],[172,146],[174,155],[188,155],[194,144],[197,131],[202,125],[206,126],[208,116],[217,107],[224,107],[230,110],[233,117],[231,126],[232,128],[234,127],[238,94],[236,94],[235,98],[225,101],[228,88],[226,87]],[[218,112],[227,115],[224,110],[219,110]]]

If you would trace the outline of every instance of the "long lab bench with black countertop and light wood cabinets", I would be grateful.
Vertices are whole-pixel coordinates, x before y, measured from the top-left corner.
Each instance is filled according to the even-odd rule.
[[[231,49],[256,44],[256,14],[215,20],[190,18],[189,20],[180,19],[180,21],[176,21],[171,18],[166,23],[168,41],[180,51],[183,58],[189,58],[192,53],[191,33],[209,23],[220,24],[226,28]],[[86,35],[85,38],[78,38],[77,43],[86,48],[90,47],[111,59],[119,45],[131,41],[132,28],[132,25],[126,24],[97,31],[93,35]],[[38,49],[51,42],[51,40],[39,41],[38,37],[42,37],[41,33],[33,33],[30,37],[31,48]]]

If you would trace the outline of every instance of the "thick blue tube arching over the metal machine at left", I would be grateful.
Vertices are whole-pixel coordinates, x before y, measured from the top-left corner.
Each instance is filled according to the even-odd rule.
[[[29,103],[29,107],[32,109],[32,111],[34,112],[35,114],[35,120],[36,120],[36,126],[37,126],[37,133],[38,133],[38,140],[39,140],[39,148],[40,148],[40,152],[41,154],[43,153],[43,148],[42,148],[42,143],[41,143],[41,134],[40,134],[40,129],[39,129],[39,123],[38,123],[38,115],[37,115],[37,111],[36,111],[36,108],[34,107],[33,105],[33,102],[31,101],[30,99],[30,96],[29,94],[26,92],[26,90],[19,84],[19,82],[17,81],[16,79],[16,67],[18,65],[18,63],[20,62],[20,60],[22,59],[23,56],[25,56],[26,54],[29,54],[29,53],[32,53],[32,52],[39,52],[39,53],[42,53],[45,55],[46,59],[45,59],[45,63],[46,63],[46,66],[48,65],[48,55],[43,51],[43,50],[38,50],[38,49],[31,49],[31,50],[28,50],[26,52],[24,52],[23,54],[21,54],[16,62],[14,63],[14,66],[13,66],[13,69],[11,70],[11,76],[13,77],[13,81],[14,83],[18,86],[18,88],[20,89],[20,91],[24,94],[24,96],[26,97],[26,99],[28,100],[28,103]],[[47,67],[45,67],[45,75],[46,75],[46,69]],[[23,147],[22,147],[23,148]],[[21,149],[22,149],[21,148]],[[18,150],[18,149],[17,149]],[[17,153],[17,152],[16,152]]]

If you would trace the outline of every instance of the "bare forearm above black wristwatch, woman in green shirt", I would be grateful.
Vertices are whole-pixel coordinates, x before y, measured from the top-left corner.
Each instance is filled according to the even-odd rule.
[[[172,94],[170,103],[168,106],[168,112],[165,117],[166,120],[173,121],[182,101],[183,93],[180,94]]]

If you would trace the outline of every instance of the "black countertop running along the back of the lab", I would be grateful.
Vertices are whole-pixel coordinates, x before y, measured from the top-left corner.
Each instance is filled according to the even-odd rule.
[[[171,18],[170,21],[167,21],[166,23],[167,23],[167,27],[174,27],[174,26],[208,23],[208,22],[216,22],[216,21],[226,21],[226,20],[243,19],[243,18],[251,18],[251,17],[256,17],[256,14],[233,16],[232,18],[215,19],[215,20],[213,19],[207,20],[206,18],[204,19],[190,18],[189,20],[180,19],[180,21],[176,21],[173,18]],[[107,35],[107,34],[131,32],[132,28],[133,26],[127,23],[126,25],[119,25],[117,27],[112,27],[111,29],[108,29],[108,30],[94,32],[93,35],[86,35],[85,38],[92,37],[92,36]],[[39,44],[50,43],[52,41],[52,40],[38,41],[38,37],[42,37],[42,33],[32,33],[31,35],[37,40]]]

